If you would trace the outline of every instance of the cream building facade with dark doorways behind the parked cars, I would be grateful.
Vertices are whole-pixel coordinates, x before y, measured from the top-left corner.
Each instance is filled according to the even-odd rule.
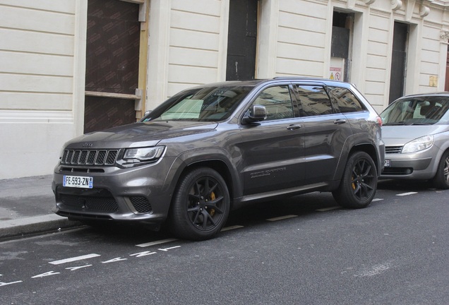
[[[381,112],[445,90],[448,0],[0,0],[0,179],[202,83],[357,85]]]

